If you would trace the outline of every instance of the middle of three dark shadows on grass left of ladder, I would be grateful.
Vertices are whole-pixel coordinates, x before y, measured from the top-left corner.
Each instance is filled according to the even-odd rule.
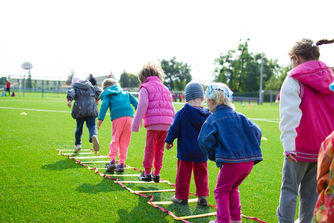
[[[125,188],[121,187],[119,184],[114,183],[114,180],[108,178],[103,178],[103,180],[98,184],[83,183],[76,188],[77,192],[87,194],[98,194],[121,190],[125,190]]]

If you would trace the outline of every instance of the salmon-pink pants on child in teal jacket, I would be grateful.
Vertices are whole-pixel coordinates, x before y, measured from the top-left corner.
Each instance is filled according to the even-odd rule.
[[[109,158],[111,160],[116,160],[118,154],[118,148],[120,148],[120,154],[118,155],[119,163],[124,163],[128,155],[128,147],[131,140],[131,124],[133,117],[125,116],[113,120],[111,124],[112,129],[112,139],[109,144]]]

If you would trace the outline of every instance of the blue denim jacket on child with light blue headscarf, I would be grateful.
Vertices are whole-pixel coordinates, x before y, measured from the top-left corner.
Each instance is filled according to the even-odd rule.
[[[199,133],[198,143],[217,167],[224,162],[240,163],[263,160],[260,144],[262,131],[259,126],[242,113],[224,104],[218,105]]]

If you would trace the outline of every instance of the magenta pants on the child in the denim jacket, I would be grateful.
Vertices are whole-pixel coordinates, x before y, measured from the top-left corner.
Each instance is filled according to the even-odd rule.
[[[214,198],[217,203],[217,222],[241,221],[239,185],[251,173],[254,161],[224,163],[220,167]]]

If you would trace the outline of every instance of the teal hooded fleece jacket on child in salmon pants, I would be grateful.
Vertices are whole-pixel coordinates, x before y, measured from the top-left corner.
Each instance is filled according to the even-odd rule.
[[[102,92],[100,99],[102,99],[102,104],[98,117],[99,120],[104,120],[108,108],[110,109],[111,121],[125,116],[133,117],[131,104],[135,107],[135,110],[137,110],[138,106],[138,100],[128,91],[123,91],[117,85],[111,86]]]

